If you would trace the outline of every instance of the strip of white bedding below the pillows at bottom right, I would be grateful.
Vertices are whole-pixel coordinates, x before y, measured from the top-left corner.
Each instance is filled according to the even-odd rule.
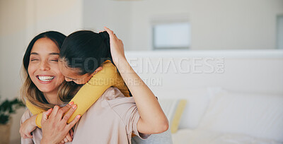
[[[282,144],[238,133],[219,133],[204,129],[180,129],[172,134],[174,144]]]

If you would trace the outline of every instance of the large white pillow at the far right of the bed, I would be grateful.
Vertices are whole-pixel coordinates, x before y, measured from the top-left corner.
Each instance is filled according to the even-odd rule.
[[[283,95],[219,92],[200,128],[283,142]]]

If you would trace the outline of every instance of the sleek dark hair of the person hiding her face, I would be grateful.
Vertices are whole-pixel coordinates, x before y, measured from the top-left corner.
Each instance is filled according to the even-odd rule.
[[[112,62],[108,32],[80,30],[71,33],[64,40],[59,57],[68,67],[78,68],[79,75],[93,73],[105,60]]]

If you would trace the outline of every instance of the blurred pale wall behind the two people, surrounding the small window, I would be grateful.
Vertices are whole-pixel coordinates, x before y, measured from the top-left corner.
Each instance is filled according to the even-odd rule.
[[[283,0],[0,0],[0,95],[19,97],[23,54],[46,30],[69,35],[108,26],[125,49],[152,50],[152,24],[187,20],[190,49],[277,49],[277,17]],[[13,116],[11,143],[21,138]]]

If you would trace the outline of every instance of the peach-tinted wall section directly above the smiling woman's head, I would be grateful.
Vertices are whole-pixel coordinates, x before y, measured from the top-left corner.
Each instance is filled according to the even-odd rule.
[[[47,30],[57,30],[64,35],[83,29],[82,0],[36,1],[26,2],[28,28],[31,40],[35,35]]]

